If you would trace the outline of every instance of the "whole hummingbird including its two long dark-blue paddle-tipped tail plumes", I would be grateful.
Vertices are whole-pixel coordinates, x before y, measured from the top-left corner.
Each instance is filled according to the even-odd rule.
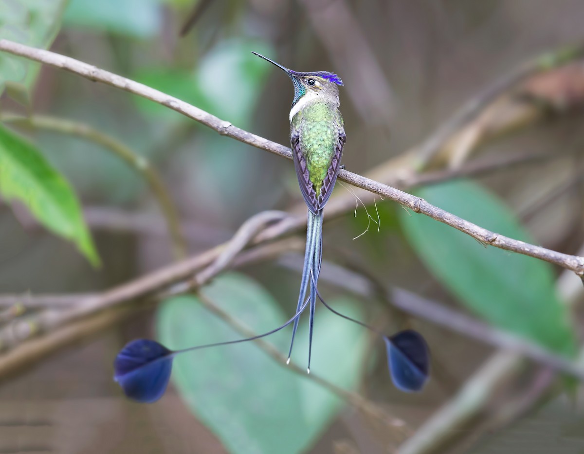
[[[385,341],[390,375],[394,385],[405,392],[422,389],[429,378],[429,351],[423,337],[413,330],[384,336],[372,327],[342,315],[329,306],[318,292],[318,275],[322,259],[322,211],[328,201],[340,169],[346,142],[343,117],[339,111],[339,86],[343,82],[326,71],[296,72],[253,53],[282,69],[294,84],[290,110],[290,144],[294,167],[304,201],[308,206],[306,250],[296,314],[282,326],[258,336],[233,341],[198,345],[183,350],[169,350],[153,340],[138,339],[128,343],[114,362],[114,380],[131,399],[150,403],[164,394],[171,376],[172,360],[178,354],[237,344],[269,336],[293,324],[288,362],[294,345],[300,315],[310,308],[308,373],[312,350],[312,327],[317,298],[336,315],[360,324],[379,334]],[[308,291],[308,298],[306,294]]]

